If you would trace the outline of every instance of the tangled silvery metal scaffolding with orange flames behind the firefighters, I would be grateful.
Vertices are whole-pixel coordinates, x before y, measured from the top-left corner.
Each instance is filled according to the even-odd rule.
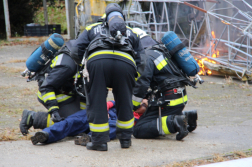
[[[117,2],[123,8],[128,26],[145,30],[157,41],[161,41],[165,32],[174,31],[195,58],[207,58],[235,71],[236,76],[242,80],[252,80],[252,2],[248,3],[245,0]]]

